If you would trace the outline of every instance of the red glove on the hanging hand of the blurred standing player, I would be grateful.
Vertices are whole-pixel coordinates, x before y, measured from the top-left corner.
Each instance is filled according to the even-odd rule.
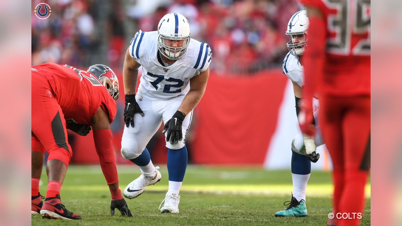
[[[297,119],[299,120],[300,129],[304,134],[314,136],[316,132],[316,126],[313,124],[313,105],[312,101],[306,101],[301,99],[300,103],[300,113]]]

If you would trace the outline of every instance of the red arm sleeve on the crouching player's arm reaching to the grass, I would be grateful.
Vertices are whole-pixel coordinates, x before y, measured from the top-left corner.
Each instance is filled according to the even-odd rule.
[[[119,182],[115,162],[115,153],[113,152],[113,135],[110,129],[95,130],[94,142],[96,153],[99,157],[100,168],[102,168],[108,185]]]

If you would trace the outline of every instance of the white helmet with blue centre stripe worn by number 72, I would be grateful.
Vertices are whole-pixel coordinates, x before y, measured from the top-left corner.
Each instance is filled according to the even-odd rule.
[[[182,47],[171,47],[165,40],[185,40]],[[169,13],[160,19],[158,24],[158,49],[169,60],[177,60],[190,44],[189,21],[179,13]]]

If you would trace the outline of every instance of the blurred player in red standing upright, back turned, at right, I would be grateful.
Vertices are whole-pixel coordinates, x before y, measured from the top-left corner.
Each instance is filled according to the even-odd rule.
[[[304,132],[314,132],[309,122],[317,94],[322,135],[333,163],[335,217],[328,224],[358,225],[370,167],[370,0],[302,3],[310,29],[299,122]]]

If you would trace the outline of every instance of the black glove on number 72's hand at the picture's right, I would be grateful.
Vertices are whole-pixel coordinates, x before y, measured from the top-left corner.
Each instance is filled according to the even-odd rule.
[[[179,140],[183,140],[183,133],[181,131],[181,125],[186,117],[183,112],[176,111],[169,121],[165,123],[162,133],[166,133],[166,141],[170,140],[170,144],[177,144]]]

